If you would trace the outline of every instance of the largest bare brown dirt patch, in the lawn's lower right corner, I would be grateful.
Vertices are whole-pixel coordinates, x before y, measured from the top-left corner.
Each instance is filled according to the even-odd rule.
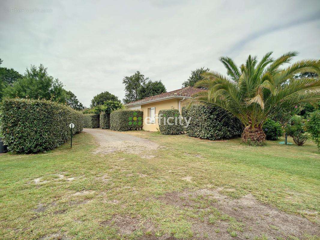
[[[270,239],[303,235],[317,235],[319,224],[306,218],[282,212],[258,202],[251,194],[232,199],[220,194],[225,189],[200,189],[194,192],[171,192],[158,200],[180,208],[192,209],[199,217],[190,219],[193,239],[252,239],[263,236]],[[232,189],[228,189],[231,191]],[[202,218],[200,218],[202,216]],[[202,219],[202,220],[200,220]]]

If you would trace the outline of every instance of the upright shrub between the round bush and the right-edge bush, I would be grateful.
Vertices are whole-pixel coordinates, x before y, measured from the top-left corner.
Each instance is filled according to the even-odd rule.
[[[293,116],[289,120],[288,124],[285,126],[285,132],[288,136],[291,136],[293,138],[293,141],[298,146],[302,146],[308,139],[308,136],[304,131],[304,123],[302,117],[300,116]]]

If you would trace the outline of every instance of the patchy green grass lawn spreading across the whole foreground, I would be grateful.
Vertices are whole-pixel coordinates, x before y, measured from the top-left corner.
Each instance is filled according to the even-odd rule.
[[[81,133],[72,149],[0,155],[0,238],[319,239],[320,155],[310,141],[249,147],[240,139],[128,134],[162,147],[146,149],[150,159],[97,155],[93,137]],[[279,222],[270,224],[270,214]],[[290,216],[313,232],[290,236],[282,229]]]

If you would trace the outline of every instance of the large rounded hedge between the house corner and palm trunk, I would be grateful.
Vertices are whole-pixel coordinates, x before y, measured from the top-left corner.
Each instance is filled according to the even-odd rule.
[[[240,137],[244,126],[236,117],[229,116],[220,108],[193,105],[182,108],[182,116],[191,117],[185,131],[188,136],[218,140]]]

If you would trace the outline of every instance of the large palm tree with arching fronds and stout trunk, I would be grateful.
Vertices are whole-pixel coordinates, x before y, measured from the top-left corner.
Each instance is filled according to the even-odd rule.
[[[262,125],[280,111],[306,102],[320,100],[320,81],[315,78],[294,79],[304,72],[320,73],[319,60],[301,60],[286,68],[297,52],[288,52],[274,59],[268,52],[258,62],[249,55],[239,67],[228,57],[220,61],[227,68],[227,75],[218,72],[202,74],[203,80],[196,87],[206,91],[193,95],[192,103],[218,106],[238,117],[245,125],[242,139],[255,145],[263,144],[266,135]]]

